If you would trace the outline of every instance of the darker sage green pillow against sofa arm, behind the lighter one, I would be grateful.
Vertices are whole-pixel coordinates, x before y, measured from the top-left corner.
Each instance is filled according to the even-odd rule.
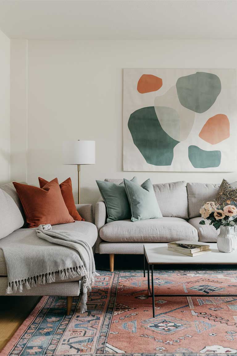
[[[128,180],[128,182],[130,182],[130,180]],[[138,180],[136,177],[133,177],[131,182],[137,184]],[[131,219],[131,209],[125,192],[124,182],[115,184],[112,182],[104,182],[103,180],[96,180],[96,183],[107,208],[107,223]]]

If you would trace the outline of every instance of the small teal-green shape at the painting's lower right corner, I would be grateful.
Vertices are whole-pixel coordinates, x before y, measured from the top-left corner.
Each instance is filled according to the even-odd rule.
[[[194,168],[219,167],[221,151],[204,151],[198,146],[189,146],[188,158]]]

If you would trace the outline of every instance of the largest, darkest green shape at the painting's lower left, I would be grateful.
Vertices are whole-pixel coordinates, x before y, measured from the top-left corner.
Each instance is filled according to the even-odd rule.
[[[171,108],[162,110],[165,115],[177,115]],[[154,166],[170,166],[173,161],[173,148],[179,141],[170,137],[161,127],[154,106],[134,111],[128,120],[128,128],[133,142],[147,163]]]

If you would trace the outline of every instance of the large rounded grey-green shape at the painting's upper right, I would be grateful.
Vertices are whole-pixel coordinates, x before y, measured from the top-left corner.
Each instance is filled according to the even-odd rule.
[[[181,105],[201,114],[215,103],[221,92],[221,81],[215,74],[196,72],[180,77],[176,89]]]

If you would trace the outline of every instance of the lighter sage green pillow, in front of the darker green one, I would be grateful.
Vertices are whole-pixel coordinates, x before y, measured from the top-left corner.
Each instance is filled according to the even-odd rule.
[[[131,208],[131,221],[163,217],[150,179],[147,179],[141,186],[124,179],[124,185]]]

